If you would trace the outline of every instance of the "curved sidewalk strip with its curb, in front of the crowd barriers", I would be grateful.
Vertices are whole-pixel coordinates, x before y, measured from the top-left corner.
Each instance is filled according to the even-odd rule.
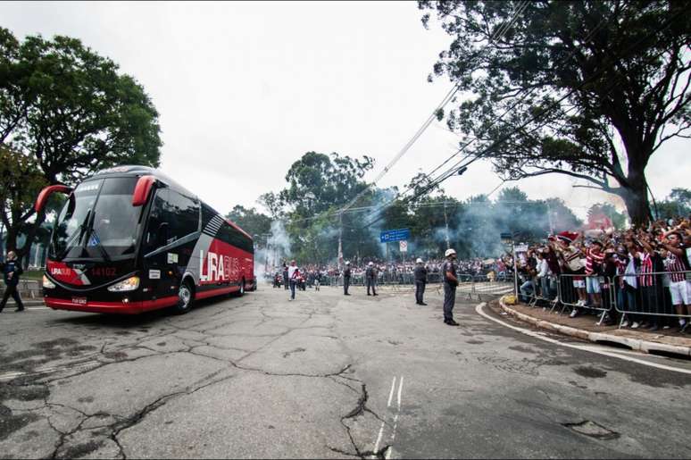
[[[691,336],[679,334],[678,330],[618,329],[617,326],[597,326],[598,318],[592,315],[580,315],[569,318],[567,314],[549,313],[541,306],[506,305],[504,297],[499,299],[499,306],[507,314],[523,322],[529,322],[537,328],[552,330],[578,339],[591,342],[613,342],[644,353],[662,352],[665,354],[691,356]]]

